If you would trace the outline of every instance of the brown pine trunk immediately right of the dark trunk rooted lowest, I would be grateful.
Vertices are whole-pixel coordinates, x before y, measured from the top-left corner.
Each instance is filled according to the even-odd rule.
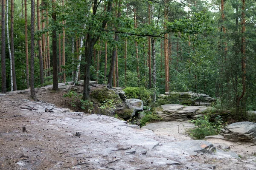
[[[38,23],[38,31],[40,31],[40,12],[39,12],[39,0],[37,0],[37,23]],[[44,68],[43,68],[43,54],[42,54],[42,46],[41,46],[41,37],[38,40],[38,51],[39,51],[39,69],[40,69],[40,82],[41,85],[44,84]]]

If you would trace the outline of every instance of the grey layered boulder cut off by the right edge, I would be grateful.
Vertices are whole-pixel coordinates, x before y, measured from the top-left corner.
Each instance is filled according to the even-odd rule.
[[[221,130],[224,139],[256,142],[256,123],[236,122]]]

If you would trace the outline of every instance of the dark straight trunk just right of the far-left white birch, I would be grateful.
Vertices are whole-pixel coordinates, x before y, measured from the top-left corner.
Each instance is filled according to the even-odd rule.
[[[11,0],[11,54],[12,54],[12,80],[13,80],[13,90],[17,91],[16,83],[16,71],[15,71],[15,59],[14,59],[14,37],[13,37],[13,20],[14,20],[14,0]]]

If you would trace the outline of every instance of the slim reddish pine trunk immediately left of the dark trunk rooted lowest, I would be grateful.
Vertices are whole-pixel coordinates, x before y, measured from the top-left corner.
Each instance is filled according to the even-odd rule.
[[[29,47],[28,47],[28,15],[27,0],[24,0],[25,6],[25,53],[26,53],[26,85],[29,88]],[[3,22],[3,21],[2,21]]]

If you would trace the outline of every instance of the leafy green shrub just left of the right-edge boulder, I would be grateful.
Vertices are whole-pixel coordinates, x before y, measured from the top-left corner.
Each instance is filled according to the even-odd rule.
[[[219,134],[221,129],[224,127],[221,116],[217,115],[214,122],[209,122],[209,119],[209,115],[204,115],[202,118],[189,121],[195,123],[195,126],[197,126],[188,130],[189,135],[195,139],[204,139],[205,136]]]

